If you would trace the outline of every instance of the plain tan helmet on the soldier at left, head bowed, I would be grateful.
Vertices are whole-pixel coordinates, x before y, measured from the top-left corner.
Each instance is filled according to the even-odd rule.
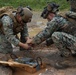
[[[32,18],[32,12],[27,7],[18,7],[17,13],[20,14],[24,23],[30,22]]]

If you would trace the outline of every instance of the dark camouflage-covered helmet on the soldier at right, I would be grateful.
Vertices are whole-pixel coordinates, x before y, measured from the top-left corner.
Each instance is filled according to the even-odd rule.
[[[41,17],[43,17],[44,19],[46,19],[47,15],[50,12],[56,14],[57,11],[59,11],[59,5],[56,4],[55,2],[50,2],[50,3],[47,4],[46,7],[44,7],[44,10],[41,13]]]

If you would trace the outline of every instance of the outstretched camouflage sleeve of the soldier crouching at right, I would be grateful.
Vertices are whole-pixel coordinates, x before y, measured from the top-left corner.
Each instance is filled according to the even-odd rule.
[[[54,17],[53,20],[47,23],[47,27],[34,37],[33,43],[40,44],[47,38],[51,37],[53,32],[57,31],[59,28],[62,28],[66,22],[67,21],[62,17]]]

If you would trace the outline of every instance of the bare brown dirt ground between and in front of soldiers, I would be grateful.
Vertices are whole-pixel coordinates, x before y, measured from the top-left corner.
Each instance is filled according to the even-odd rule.
[[[46,27],[46,20],[40,17],[40,12],[33,12],[32,22],[28,24],[29,35],[30,37],[35,36],[39,31],[43,30]],[[14,52],[18,56],[26,56],[26,57],[41,57],[42,61],[46,63],[46,68],[39,70],[36,73],[30,74],[25,71],[16,71],[14,75],[76,75],[76,59],[69,57],[68,59],[62,58],[59,55],[58,49],[54,44],[47,47],[46,43],[38,45],[30,51],[19,51],[19,48],[14,47]],[[66,69],[57,69],[55,67],[56,62],[68,60],[67,64],[70,65],[69,68]]]

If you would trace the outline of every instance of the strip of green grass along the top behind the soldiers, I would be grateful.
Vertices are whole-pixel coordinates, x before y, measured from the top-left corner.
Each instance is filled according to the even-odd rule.
[[[30,6],[33,10],[41,10],[47,2],[56,2],[60,5],[60,10],[69,9],[69,3],[66,0],[0,0],[0,7],[3,6]]]

